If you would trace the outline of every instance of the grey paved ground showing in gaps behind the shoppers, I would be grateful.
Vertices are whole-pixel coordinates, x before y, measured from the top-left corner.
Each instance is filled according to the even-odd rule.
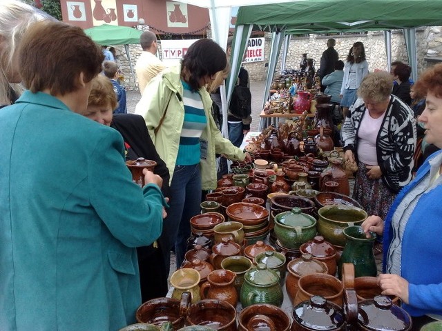
[[[262,110],[262,97],[264,95],[265,81],[251,81],[250,82],[250,92],[251,92],[251,103],[252,103],[252,119],[250,125],[251,131],[258,131],[258,126],[260,123],[260,112]],[[137,102],[140,101],[140,91],[128,91],[126,92],[127,98],[127,110],[128,112],[135,112],[135,106]]]

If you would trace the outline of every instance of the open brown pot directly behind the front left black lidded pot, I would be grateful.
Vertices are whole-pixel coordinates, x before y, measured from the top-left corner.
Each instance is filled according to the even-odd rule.
[[[296,293],[294,304],[309,300],[318,295],[327,301],[343,305],[343,283],[330,274],[307,274],[298,281],[299,290]]]

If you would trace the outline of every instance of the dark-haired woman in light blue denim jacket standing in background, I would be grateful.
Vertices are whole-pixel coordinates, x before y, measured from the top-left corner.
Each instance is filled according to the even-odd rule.
[[[368,74],[368,63],[365,60],[364,44],[356,41],[350,48],[347,55],[347,62],[344,66],[343,85],[340,88],[340,106],[343,108],[344,119],[347,115],[348,108],[356,101],[356,91],[361,82]]]

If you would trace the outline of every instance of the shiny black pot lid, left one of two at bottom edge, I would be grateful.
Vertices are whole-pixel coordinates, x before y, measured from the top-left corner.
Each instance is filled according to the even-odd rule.
[[[307,330],[337,330],[345,322],[338,305],[316,295],[296,305],[291,314],[294,323]]]

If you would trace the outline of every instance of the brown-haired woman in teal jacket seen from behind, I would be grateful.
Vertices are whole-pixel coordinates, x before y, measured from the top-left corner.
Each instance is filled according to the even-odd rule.
[[[30,90],[0,111],[1,330],[135,322],[135,247],[162,230],[161,179],[148,172],[140,189],[121,135],[75,114],[102,60],[81,28],[58,21],[35,23],[21,41]]]

